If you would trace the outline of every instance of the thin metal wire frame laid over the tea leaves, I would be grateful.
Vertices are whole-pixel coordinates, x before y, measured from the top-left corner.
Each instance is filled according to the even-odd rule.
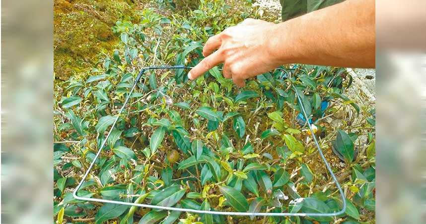
[[[89,174],[90,170],[92,169],[93,165],[95,164],[96,160],[99,158],[100,153],[102,152],[108,137],[110,136],[115,124],[117,123],[118,118],[120,117],[120,114],[124,111],[124,108],[126,107],[127,102],[129,101],[130,96],[132,95],[133,91],[135,90],[135,87],[139,80],[141,79],[143,73],[147,70],[151,69],[185,69],[185,68],[192,68],[190,66],[184,66],[184,65],[176,65],[176,66],[151,66],[151,67],[144,67],[138,74],[138,76],[135,79],[134,85],[132,87],[132,90],[128,94],[123,106],[121,107],[120,111],[116,115],[116,119],[114,120],[114,123],[112,124],[107,136],[105,137],[104,141],[102,142],[102,146],[99,148],[98,152],[96,153],[95,158],[93,159],[92,163],[90,164],[89,168],[87,169],[86,173],[81,178],[81,181],[78,183],[77,187],[72,192],[72,196],[75,199],[78,200],[84,200],[84,201],[94,201],[94,202],[101,202],[101,203],[112,203],[112,204],[119,204],[119,205],[128,205],[128,206],[138,206],[138,207],[144,207],[144,208],[151,208],[151,209],[164,209],[164,210],[172,210],[172,211],[181,211],[181,212],[190,212],[190,213],[201,213],[201,214],[212,214],[212,215],[231,215],[231,216],[313,216],[313,217],[331,217],[331,216],[339,216],[345,213],[346,211],[346,200],[345,196],[342,190],[342,187],[340,186],[340,183],[337,181],[336,176],[334,175],[333,171],[330,168],[330,165],[327,163],[327,160],[324,157],[324,154],[322,153],[322,150],[318,144],[318,141],[314,135],[314,132],[312,130],[312,127],[309,125],[309,129],[311,131],[312,138],[315,141],[315,144],[318,148],[318,152],[324,161],[327,170],[330,172],[331,176],[333,177],[334,182],[336,183],[337,188],[339,189],[339,192],[342,196],[343,201],[343,208],[339,212],[334,213],[252,213],[252,212],[220,212],[220,211],[203,211],[203,210],[195,210],[195,209],[184,209],[184,208],[175,208],[175,207],[165,207],[165,206],[156,206],[156,205],[148,205],[148,204],[140,204],[140,203],[132,203],[132,202],[122,202],[122,201],[113,201],[113,200],[105,200],[105,199],[97,199],[97,198],[85,198],[80,197],[77,195],[77,191],[80,189],[81,185],[84,183],[84,180],[86,179],[87,175]],[[291,77],[290,77],[291,78]],[[308,120],[308,117],[306,115],[305,109],[303,107],[302,101],[300,100],[300,97],[297,93],[296,88],[291,83],[292,87],[294,88],[294,91],[296,93],[300,108],[302,109],[303,115],[305,116],[306,120]]]

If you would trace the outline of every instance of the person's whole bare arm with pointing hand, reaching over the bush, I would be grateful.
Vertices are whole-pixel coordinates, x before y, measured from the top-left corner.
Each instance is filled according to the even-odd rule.
[[[211,37],[206,58],[188,76],[224,63],[225,78],[242,87],[244,79],[287,63],[374,67],[374,14],[374,0],[347,0],[280,24],[246,19]]]

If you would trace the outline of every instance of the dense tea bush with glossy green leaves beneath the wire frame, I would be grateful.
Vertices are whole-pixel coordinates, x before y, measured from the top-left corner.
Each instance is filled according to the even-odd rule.
[[[248,80],[242,89],[222,76],[220,66],[195,81],[188,81],[184,69],[150,70],[78,195],[212,211],[339,211],[341,197],[318,155],[309,123],[299,113],[292,83],[343,185],[348,203],[344,215],[230,217],[72,197],[142,67],[193,66],[203,58],[208,37],[245,17],[259,17],[255,9],[239,13],[223,0],[201,0],[198,9],[187,12],[170,2],[159,2],[169,8],[165,15],[145,8],[140,23],[118,21],[112,30],[123,48],[105,56],[89,74],[56,86],[55,219],[121,224],[374,222],[374,110],[360,108],[345,95],[353,80],[346,69],[326,66],[283,65]],[[338,107],[350,111],[341,129],[324,122],[324,116],[342,111]],[[366,142],[357,140],[358,135],[368,136]]]

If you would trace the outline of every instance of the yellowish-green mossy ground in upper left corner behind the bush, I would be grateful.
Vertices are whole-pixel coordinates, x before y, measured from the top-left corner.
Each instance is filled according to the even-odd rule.
[[[139,21],[131,0],[55,0],[54,70],[56,77],[88,72],[100,53],[117,47],[111,26],[117,20]]]

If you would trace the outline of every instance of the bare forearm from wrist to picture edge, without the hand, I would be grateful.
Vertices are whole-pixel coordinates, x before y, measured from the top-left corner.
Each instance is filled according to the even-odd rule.
[[[374,67],[374,0],[347,0],[271,27],[277,63]]]

